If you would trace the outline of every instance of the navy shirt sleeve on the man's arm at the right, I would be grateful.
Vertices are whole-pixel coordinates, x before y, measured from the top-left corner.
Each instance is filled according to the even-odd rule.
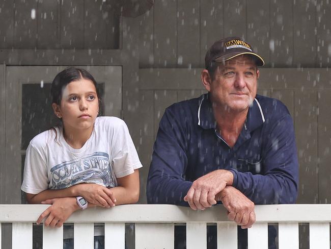
[[[261,175],[230,169],[233,186],[255,204],[294,203],[298,191],[298,159],[289,114],[275,121],[263,143]]]

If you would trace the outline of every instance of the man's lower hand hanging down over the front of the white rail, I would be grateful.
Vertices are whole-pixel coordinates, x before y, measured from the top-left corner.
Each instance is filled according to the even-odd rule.
[[[251,228],[255,222],[254,203],[238,189],[227,186],[216,195],[228,210],[229,220],[235,221],[242,229]]]

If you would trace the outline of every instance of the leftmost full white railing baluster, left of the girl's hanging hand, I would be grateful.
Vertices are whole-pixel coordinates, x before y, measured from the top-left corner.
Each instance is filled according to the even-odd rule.
[[[32,248],[32,223],[13,222],[12,231],[13,249]]]

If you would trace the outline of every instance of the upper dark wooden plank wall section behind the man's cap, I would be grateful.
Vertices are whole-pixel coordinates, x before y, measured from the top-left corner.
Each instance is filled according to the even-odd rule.
[[[140,17],[140,67],[204,67],[216,40],[239,36],[267,67],[326,67],[328,0],[155,0]]]

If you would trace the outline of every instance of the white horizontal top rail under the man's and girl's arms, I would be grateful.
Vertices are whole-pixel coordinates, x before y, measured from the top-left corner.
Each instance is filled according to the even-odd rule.
[[[0,222],[36,222],[50,205],[0,205]],[[331,222],[331,204],[256,205],[256,222]],[[227,211],[217,205],[194,211],[175,205],[121,205],[89,208],[73,213],[67,222],[186,223],[228,222]]]

